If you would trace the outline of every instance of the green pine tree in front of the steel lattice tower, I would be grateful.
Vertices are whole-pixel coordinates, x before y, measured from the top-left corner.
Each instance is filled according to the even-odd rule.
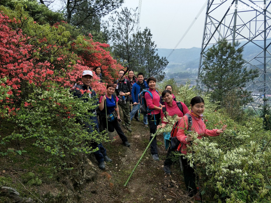
[[[210,92],[213,101],[223,104],[223,98],[231,90],[235,90],[241,105],[251,100],[250,92],[244,90],[246,83],[257,77],[256,70],[247,71],[243,68],[243,48],[237,48],[240,43],[232,45],[226,39],[218,41],[206,53],[203,62],[203,73],[200,80]]]

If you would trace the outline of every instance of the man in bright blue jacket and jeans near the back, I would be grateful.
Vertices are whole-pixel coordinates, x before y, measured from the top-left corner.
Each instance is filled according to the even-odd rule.
[[[133,119],[135,113],[139,109],[138,94],[140,92],[142,92],[143,89],[148,89],[148,88],[149,88],[149,86],[148,86],[147,82],[144,80],[143,73],[138,73],[138,81],[135,84],[133,84],[132,93],[131,93],[132,94],[132,101],[133,101],[133,109],[130,112],[131,120]],[[143,113],[143,125],[145,128],[148,128],[147,113]]]

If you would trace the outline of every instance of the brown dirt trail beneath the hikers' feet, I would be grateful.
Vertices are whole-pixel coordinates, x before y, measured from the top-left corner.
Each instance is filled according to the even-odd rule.
[[[83,202],[193,202],[187,198],[185,183],[178,164],[172,166],[172,175],[165,175],[163,162],[166,151],[162,135],[157,137],[160,161],[154,161],[150,150],[146,152],[133,176],[124,187],[131,171],[143,154],[149,142],[149,129],[142,122],[132,121],[132,132],[123,128],[131,147],[121,146],[117,136],[110,143],[108,156],[112,163],[106,163],[106,170],[99,173],[97,181],[89,182],[84,191]],[[108,145],[106,144],[106,148]]]

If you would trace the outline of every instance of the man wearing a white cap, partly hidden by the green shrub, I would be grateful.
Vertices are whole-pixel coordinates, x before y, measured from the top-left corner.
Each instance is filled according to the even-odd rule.
[[[93,79],[93,74],[92,71],[83,71],[82,74],[82,82],[84,85],[77,85],[74,89],[74,96],[77,96],[78,98],[82,98],[83,94],[80,92],[80,90],[89,90],[89,97],[90,98],[95,98],[95,100],[97,100],[97,104],[99,104],[98,98],[96,98],[96,92],[94,90],[91,89],[91,83],[92,83],[92,79]],[[89,100],[87,98],[82,98],[85,102],[88,102]],[[95,116],[89,116],[89,123],[84,123],[84,125],[86,126],[86,130],[91,133],[94,130],[97,130],[99,132],[99,125],[98,125],[98,119],[97,119],[97,115],[96,115],[96,110],[93,109],[92,112]],[[93,127],[91,125],[91,123],[95,124],[95,128],[93,130]],[[91,143],[93,148],[99,148],[98,151],[94,152],[95,158],[96,160],[99,162],[99,168],[101,170],[105,169],[105,164],[104,161],[106,162],[112,162],[112,160],[106,155],[106,149],[103,147],[102,143],[96,143],[93,142]]]

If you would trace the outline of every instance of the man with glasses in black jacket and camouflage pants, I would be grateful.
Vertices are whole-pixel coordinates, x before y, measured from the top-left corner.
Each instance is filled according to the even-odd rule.
[[[116,94],[120,99],[118,101],[118,106],[121,107],[123,112],[123,120],[127,130],[130,132],[131,129],[131,119],[130,119],[130,111],[129,111],[129,95],[131,94],[131,85],[130,82],[125,79],[124,70],[118,71],[118,80],[114,81],[116,87]],[[124,99],[123,99],[124,97]]]

